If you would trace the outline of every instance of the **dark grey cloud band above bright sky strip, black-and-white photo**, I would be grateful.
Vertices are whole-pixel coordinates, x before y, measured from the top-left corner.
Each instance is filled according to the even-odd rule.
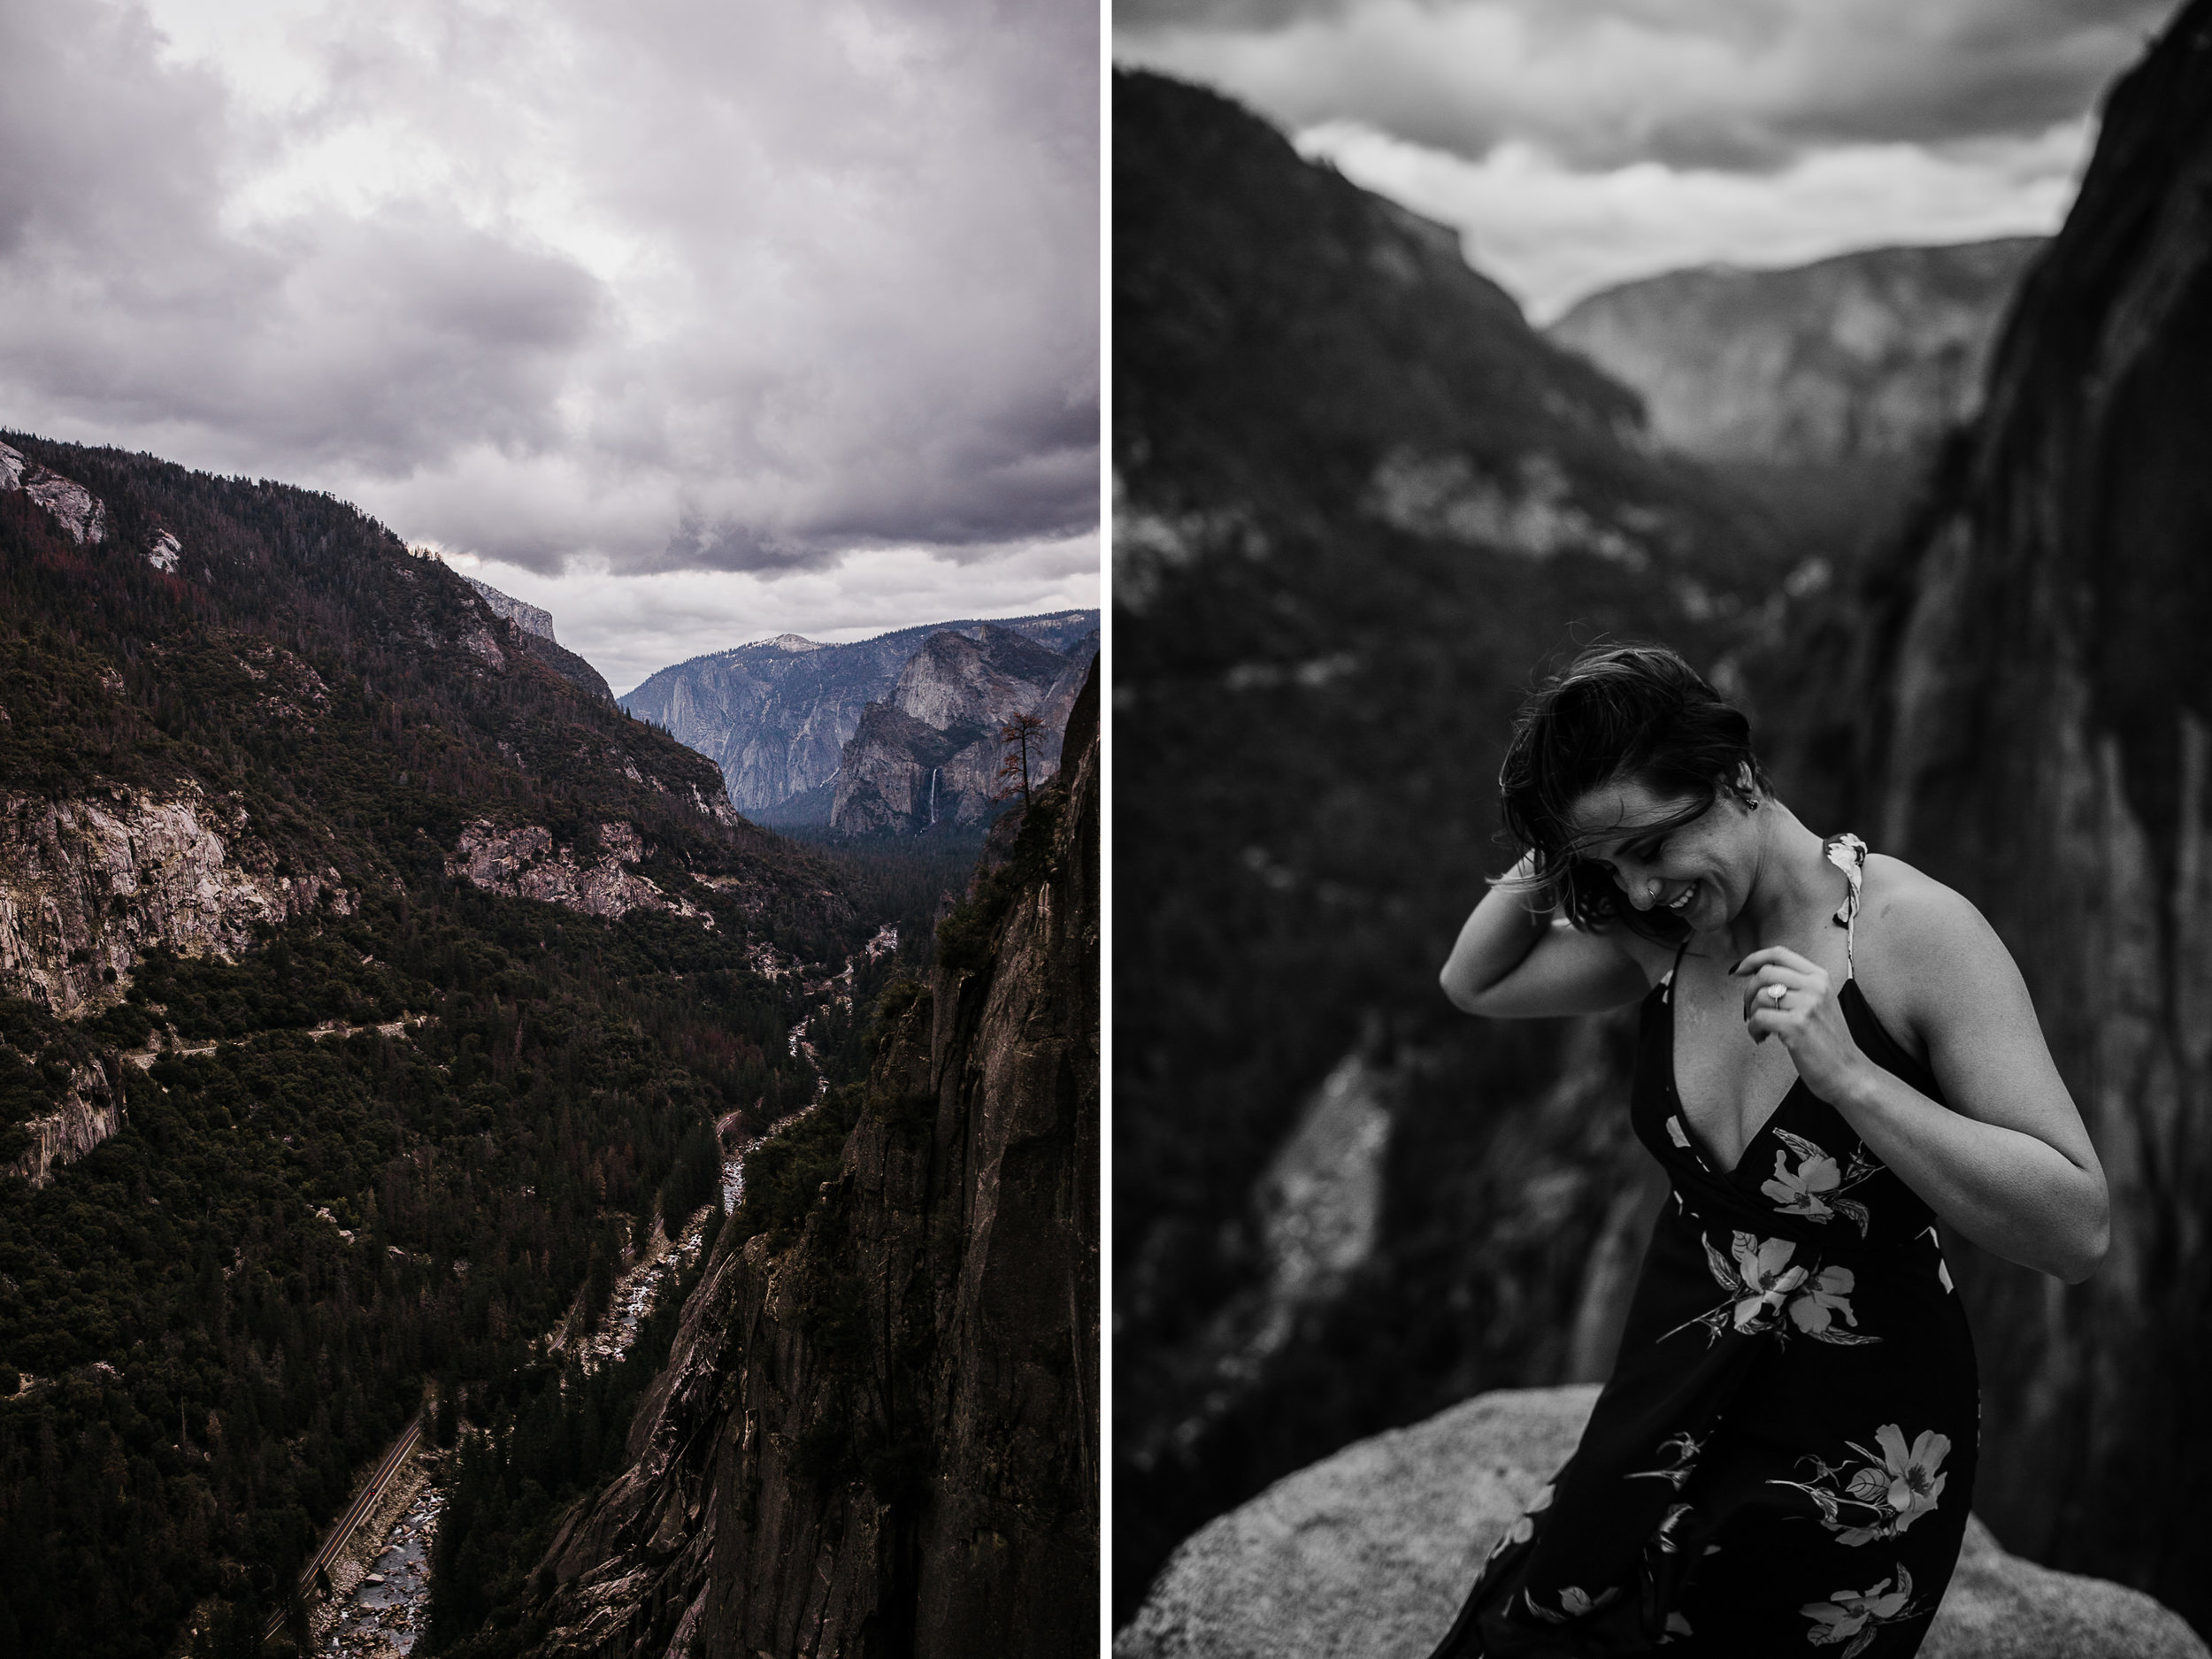
[[[1834,144],[1960,144],[2086,111],[2172,0],[1135,0],[1130,62],[1290,126],[1354,119],[1482,157],[1774,168]]]

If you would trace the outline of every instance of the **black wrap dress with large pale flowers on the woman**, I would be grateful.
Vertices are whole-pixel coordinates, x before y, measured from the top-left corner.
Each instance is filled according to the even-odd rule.
[[[1851,878],[1865,843],[1829,858]],[[1582,1444],[1500,1540],[1436,1659],[1920,1648],[1966,1531],[1980,1396],[1936,1217],[1794,1084],[1732,1168],[1674,1097],[1672,973],[1630,1121],[1672,1181]],[[1940,1102],[1838,991],[1860,1051]]]

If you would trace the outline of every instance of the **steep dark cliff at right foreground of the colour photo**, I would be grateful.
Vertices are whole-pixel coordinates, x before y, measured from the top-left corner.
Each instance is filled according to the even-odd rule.
[[[1077,759],[984,898],[989,951],[887,1011],[799,1237],[723,1230],[630,1469],[540,1568],[538,1650],[1042,1659],[1095,1639],[1095,686],[1066,739]]]

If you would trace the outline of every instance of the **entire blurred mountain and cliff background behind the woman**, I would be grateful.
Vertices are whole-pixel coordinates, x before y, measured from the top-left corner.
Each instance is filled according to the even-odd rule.
[[[2212,1619],[2208,18],[2048,246],[1681,272],[1551,332],[1237,104],[1115,77],[1117,1621],[1334,1447],[1610,1369],[1659,1197],[1628,1026],[1436,989],[1511,712],[1599,637],[1681,648],[1807,823],[2011,942],[2126,1237],[2081,1287],[1951,1241],[1978,1513]]]

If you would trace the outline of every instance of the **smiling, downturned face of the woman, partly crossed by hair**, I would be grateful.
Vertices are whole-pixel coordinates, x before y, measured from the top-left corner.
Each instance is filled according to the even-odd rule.
[[[1674,823],[1694,805],[1697,796],[1615,779],[1575,801],[1568,821],[1584,838],[1577,856],[1610,872],[1632,907],[1668,911],[1703,933],[1730,922],[1750,896],[1759,818],[1721,790],[1705,812]]]

